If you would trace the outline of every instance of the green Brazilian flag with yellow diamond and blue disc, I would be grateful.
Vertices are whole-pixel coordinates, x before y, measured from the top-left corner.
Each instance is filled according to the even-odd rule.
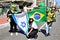
[[[36,23],[46,22],[46,8],[39,7],[28,12],[28,18],[33,18]]]

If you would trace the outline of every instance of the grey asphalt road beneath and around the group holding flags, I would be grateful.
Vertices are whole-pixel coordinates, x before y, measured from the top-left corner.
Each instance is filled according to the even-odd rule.
[[[46,37],[43,33],[44,32],[43,30],[42,32],[38,32],[38,38],[36,40],[60,40],[60,15],[59,14],[57,14],[56,19],[57,21],[53,24],[53,27],[50,31],[50,36]],[[21,33],[18,33],[17,36],[14,33],[14,35],[11,36],[8,31],[9,31],[9,23],[0,24],[0,40],[27,40],[26,36]]]

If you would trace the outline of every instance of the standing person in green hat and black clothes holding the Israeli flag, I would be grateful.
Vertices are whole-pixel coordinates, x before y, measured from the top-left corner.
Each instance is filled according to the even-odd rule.
[[[10,10],[7,13],[7,18],[10,21],[10,30],[9,32],[17,32],[17,26],[16,23],[14,22],[13,18],[12,18],[12,14],[14,13],[14,10],[16,10],[16,6],[11,5],[10,6]]]

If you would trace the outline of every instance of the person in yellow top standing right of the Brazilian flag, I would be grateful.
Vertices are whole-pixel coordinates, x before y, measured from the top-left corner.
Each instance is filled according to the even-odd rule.
[[[54,8],[52,8],[51,12],[47,14],[47,23],[50,27],[52,26],[52,23],[54,22],[54,18],[56,18],[56,15],[55,15]]]

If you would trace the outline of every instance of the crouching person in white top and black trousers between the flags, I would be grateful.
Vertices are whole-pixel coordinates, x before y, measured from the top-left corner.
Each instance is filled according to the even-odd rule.
[[[29,31],[27,34],[27,38],[37,38],[38,35],[38,27],[36,23],[34,22],[33,18],[29,18]]]

